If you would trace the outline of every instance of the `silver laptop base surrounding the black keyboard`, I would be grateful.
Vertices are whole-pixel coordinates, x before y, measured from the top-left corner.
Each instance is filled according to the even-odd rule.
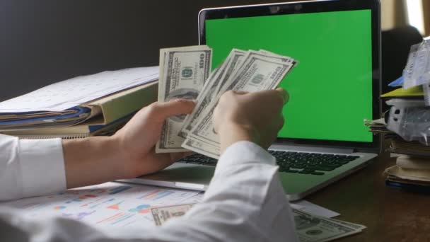
[[[358,171],[360,168],[366,166],[371,159],[377,156],[377,154],[371,153],[354,153],[347,149],[306,148],[301,146],[286,146],[283,144],[274,144],[270,149],[276,151],[315,152],[319,154],[360,156],[359,159],[356,159],[344,166],[340,166],[333,171],[325,171],[324,175],[279,172],[279,178],[284,186],[286,196],[291,201],[300,200],[303,197],[306,197],[306,195],[310,195],[310,193],[315,192],[320,188],[324,188],[326,185],[329,185],[346,175]],[[215,166],[177,162],[158,173],[119,181],[203,191],[208,188],[212,175],[214,175],[214,171]]]

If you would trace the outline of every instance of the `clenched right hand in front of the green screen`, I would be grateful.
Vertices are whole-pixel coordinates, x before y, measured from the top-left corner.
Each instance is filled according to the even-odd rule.
[[[288,93],[282,88],[224,93],[214,110],[214,127],[220,137],[221,154],[239,141],[254,142],[267,149],[284,125],[282,107],[288,99]]]

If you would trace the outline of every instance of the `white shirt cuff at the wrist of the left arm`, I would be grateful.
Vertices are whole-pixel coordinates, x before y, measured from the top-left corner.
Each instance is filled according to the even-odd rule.
[[[20,139],[23,197],[66,190],[62,139]]]

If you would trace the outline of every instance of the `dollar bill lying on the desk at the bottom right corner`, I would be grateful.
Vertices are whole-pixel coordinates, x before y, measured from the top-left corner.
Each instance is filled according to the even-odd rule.
[[[361,231],[335,219],[325,219],[296,209],[293,209],[293,215],[298,239],[302,242],[332,241]]]

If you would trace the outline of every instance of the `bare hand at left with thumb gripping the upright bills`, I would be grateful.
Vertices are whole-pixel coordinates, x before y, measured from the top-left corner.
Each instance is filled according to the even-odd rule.
[[[112,137],[108,144],[103,143],[106,149],[103,165],[104,172],[112,173],[112,176],[105,180],[115,180],[119,178],[135,178],[139,175],[146,175],[160,171],[170,166],[177,159],[185,154],[155,154],[154,146],[160,137],[164,121],[173,115],[186,115],[191,113],[194,102],[190,100],[178,99],[164,103],[152,103],[139,110],[127,125],[122,127]],[[98,149],[91,149],[98,150]],[[113,152],[115,156],[108,156]],[[94,156],[91,156],[94,158]],[[118,162],[118,161],[122,162]],[[112,162],[109,166],[107,162]],[[76,175],[77,182],[82,182],[81,176]],[[82,185],[81,185],[82,186]]]

